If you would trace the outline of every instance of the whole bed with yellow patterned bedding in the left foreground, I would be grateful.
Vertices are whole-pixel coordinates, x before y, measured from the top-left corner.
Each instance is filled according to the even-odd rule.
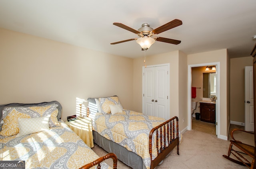
[[[25,167],[30,169],[86,169],[98,163],[102,169],[112,169],[102,161],[113,158],[116,168],[117,158],[113,153],[99,158],[62,120],[58,120],[61,111],[58,102],[26,105],[0,105],[3,121],[0,161],[24,161]]]

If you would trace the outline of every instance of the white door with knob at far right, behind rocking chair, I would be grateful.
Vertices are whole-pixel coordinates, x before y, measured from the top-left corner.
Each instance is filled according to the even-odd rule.
[[[253,70],[252,66],[244,67],[244,129],[254,132],[253,109]]]

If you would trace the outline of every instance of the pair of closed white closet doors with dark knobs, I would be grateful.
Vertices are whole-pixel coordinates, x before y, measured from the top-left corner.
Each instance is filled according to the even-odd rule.
[[[143,113],[169,119],[168,66],[146,67],[143,74]]]

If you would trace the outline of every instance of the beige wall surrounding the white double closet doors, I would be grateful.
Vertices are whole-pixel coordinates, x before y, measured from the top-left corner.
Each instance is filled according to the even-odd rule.
[[[134,110],[142,112],[142,67],[144,58],[134,59]],[[147,65],[170,63],[170,117],[179,118],[180,130],[187,124],[187,55],[174,51],[147,57]],[[178,70],[178,71],[177,71]],[[182,123],[184,118],[185,123]]]

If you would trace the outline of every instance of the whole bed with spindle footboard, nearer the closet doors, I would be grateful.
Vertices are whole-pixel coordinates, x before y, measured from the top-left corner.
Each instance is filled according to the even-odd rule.
[[[125,110],[117,96],[88,98],[88,101],[94,141],[106,151],[113,151],[126,165],[150,169],[156,167],[174,147],[177,146],[179,153],[181,136],[177,117],[165,120]]]

